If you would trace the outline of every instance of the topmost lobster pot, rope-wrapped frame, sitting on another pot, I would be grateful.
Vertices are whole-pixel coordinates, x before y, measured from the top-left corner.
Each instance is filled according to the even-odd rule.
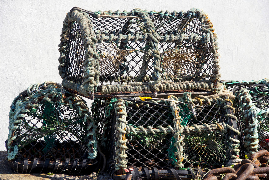
[[[218,90],[216,39],[208,16],[198,9],[170,13],[72,8],[63,22],[59,74],[66,89],[91,98]]]

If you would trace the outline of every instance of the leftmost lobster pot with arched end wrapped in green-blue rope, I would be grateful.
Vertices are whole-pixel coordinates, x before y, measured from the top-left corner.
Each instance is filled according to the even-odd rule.
[[[6,146],[6,164],[16,172],[89,173],[98,167],[86,102],[56,83],[32,85],[15,98]]]

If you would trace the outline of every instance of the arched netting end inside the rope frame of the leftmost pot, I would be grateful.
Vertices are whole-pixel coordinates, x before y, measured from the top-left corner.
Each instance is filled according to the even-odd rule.
[[[79,105],[73,105],[72,109],[69,103],[76,103],[73,100],[60,103],[59,98],[49,98],[53,104],[40,99],[40,106],[26,106],[29,112],[24,113],[25,116],[15,131],[17,138],[13,143],[17,144],[19,149],[15,158],[18,158],[18,161],[25,158],[33,161],[34,158],[38,158],[41,162],[46,159],[52,162],[57,159],[60,162],[67,159],[69,162],[74,162],[75,159],[82,162],[87,159],[91,162],[91,159],[88,159],[88,143],[92,138],[87,136],[89,122],[84,122]]]

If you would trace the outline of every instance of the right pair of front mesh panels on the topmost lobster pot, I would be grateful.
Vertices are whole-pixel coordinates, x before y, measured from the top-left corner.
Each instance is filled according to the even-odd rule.
[[[190,18],[187,16],[176,19],[169,16],[161,18],[160,16],[152,16],[155,24],[155,30],[160,35],[180,35],[191,33],[204,35],[206,34],[201,29],[204,26],[197,17]],[[203,44],[197,42],[180,42],[176,43],[160,43],[160,53],[165,61],[162,62],[162,70],[165,80],[173,80],[180,82],[182,80],[210,80],[213,75],[212,57],[210,51],[212,45],[210,43]],[[179,56],[175,60],[175,55]],[[168,58],[164,58],[167,56]],[[170,58],[169,58],[170,56]],[[177,75],[177,77],[174,77]]]

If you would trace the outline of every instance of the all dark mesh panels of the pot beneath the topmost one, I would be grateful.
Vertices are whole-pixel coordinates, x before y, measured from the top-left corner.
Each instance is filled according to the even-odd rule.
[[[100,101],[100,100],[95,100]],[[108,100],[109,102],[109,100]],[[109,103],[106,103],[107,105]],[[171,113],[170,106],[164,102],[158,102],[155,105],[146,105],[144,103],[126,102],[126,121],[127,126],[137,128],[142,126],[147,128],[157,128],[158,126],[173,127],[174,116]],[[192,115],[191,110],[187,105],[179,104],[181,109],[179,115],[182,116],[181,125],[191,126],[193,124],[202,125],[215,124],[226,122],[226,111],[223,109],[224,104],[212,102],[211,105],[204,104],[204,108],[195,108],[197,119]],[[108,114],[108,109],[106,109]],[[93,113],[93,112],[92,112]],[[109,117],[100,117],[100,121],[108,121],[109,128],[105,134],[108,134],[106,153],[109,154],[108,165],[110,172],[114,171],[116,161],[116,114],[114,109],[110,111]],[[221,167],[229,159],[229,136],[230,131],[222,133],[220,131],[205,131],[202,133],[186,133],[184,132],[184,167],[201,166],[201,167]],[[177,157],[175,157],[176,148],[174,147],[175,138],[172,133],[137,133],[130,132],[126,134],[128,142],[126,146],[127,167],[137,167],[141,170],[142,167],[152,169],[173,168]]]

